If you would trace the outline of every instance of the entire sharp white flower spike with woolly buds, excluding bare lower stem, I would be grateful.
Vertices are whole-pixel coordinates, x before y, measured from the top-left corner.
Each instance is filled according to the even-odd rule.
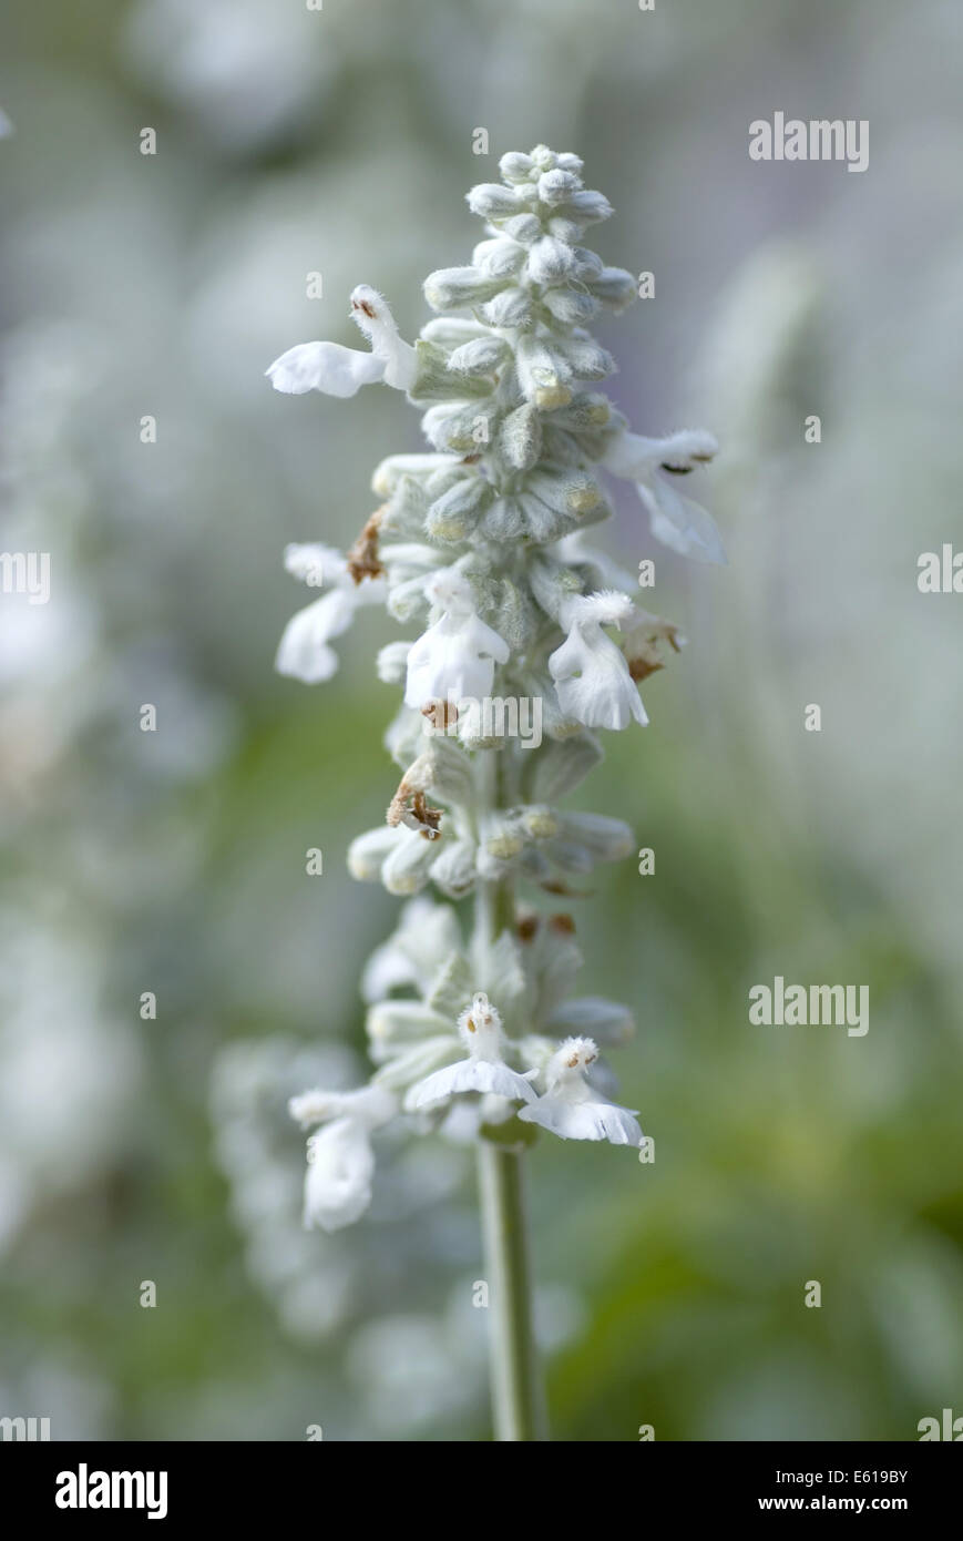
[[[633,851],[619,820],[558,807],[601,760],[601,730],[647,721],[638,683],[663,667],[661,647],[683,644],[635,604],[632,575],[586,544],[610,513],[599,473],[636,484],[664,544],[726,559],[712,518],[678,492],[715,455],[713,438],[636,435],[601,390],[615,361],[587,325],[636,297],[630,273],[581,243],[609,202],[582,186],[576,156],[538,146],[499,168],[501,183],[468,193],[487,225],[471,262],[425,280],[438,314],[414,347],[384,297],[359,285],[351,314],[368,351],[307,342],[267,371],[296,394],[404,390],[430,444],[377,467],[381,504],[345,555],[324,544],[285,553],[288,570],[324,592],[288,623],[282,673],[330,678],[331,641],[367,604],[416,633],[377,661],[382,680],[404,686],[387,735],[401,784],[385,824],[348,852],[356,878],[408,900],[364,979],[376,1069],[356,1091],[291,1100],[305,1128],[319,1126],[305,1220],[325,1230],[365,1211],[371,1134],[398,1117],[455,1139],[521,1143],[541,1125],[562,1139],[643,1142],[599,1065],[599,1046],[624,1042],[632,1016],[572,999],[581,957],[570,917],[522,911],[468,942],[455,909],[422,894],[478,892],[482,906],[522,883],[575,894],[596,861]],[[528,721],[538,706],[541,743],[519,737],[512,703]]]

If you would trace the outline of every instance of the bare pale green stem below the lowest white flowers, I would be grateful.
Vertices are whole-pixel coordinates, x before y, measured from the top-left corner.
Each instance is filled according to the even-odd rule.
[[[532,1270],[522,1157],[478,1142],[478,1180],[490,1284],[492,1413],[498,1441],[547,1439],[532,1330]]]

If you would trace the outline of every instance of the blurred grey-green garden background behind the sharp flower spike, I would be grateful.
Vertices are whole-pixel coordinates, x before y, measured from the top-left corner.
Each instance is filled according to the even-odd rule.
[[[2,544],[51,553],[52,598],[0,601],[0,1415],[487,1438],[467,1154],[388,1147],[371,1216],[305,1234],[284,1114],[364,1074],[357,979],[398,906],[344,869],[396,781],[396,633],[367,613],[330,686],[274,676],[304,603],[280,553],[350,539],[418,416],[263,370],[353,342],[362,280],[410,337],[479,239],[465,190],[538,142],[615,203],[606,260],[655,273],[598,328],[613,394],[639,431],[718,435],[730,556],[653,547],[630,488],[606,535],[655,556],[690,646],[579,792],[656,852],[576,918],[582,992],[638,1014],[616,1068],[658,1159],[535,1153],[553,1435],[963,1413],[963,599],[915,582],[963,546],[961,52],[949,0],[12,8]],[[869,170],[750,162],[775,109],[867,119]],[[750,1026],[775,974],[869,985],[867,1036]]]

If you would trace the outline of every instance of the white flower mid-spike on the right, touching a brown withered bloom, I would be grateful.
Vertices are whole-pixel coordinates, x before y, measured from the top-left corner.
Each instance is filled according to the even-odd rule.
[[[630,720],[646,724],[629,664],[602,626],[621,626],[632,618],[632,599],[624,593],[575,595],[561,610],[569,636],[549,658],[559,706],[567,717],[586,727],[627,727]]]

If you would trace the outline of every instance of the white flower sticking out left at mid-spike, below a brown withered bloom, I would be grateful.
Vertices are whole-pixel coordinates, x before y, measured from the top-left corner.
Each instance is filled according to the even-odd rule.
[[[320,599],[291,616],[274,660],[277,673],[319,684],[337,670],[337,653],[328,647],[330,640],[348,630],[361,606],[379,604],[385,586],[381,578],[356,584],[345,558],[330,546],[288,546],[284,562],[290,573],[311,587],[333,584]]]

